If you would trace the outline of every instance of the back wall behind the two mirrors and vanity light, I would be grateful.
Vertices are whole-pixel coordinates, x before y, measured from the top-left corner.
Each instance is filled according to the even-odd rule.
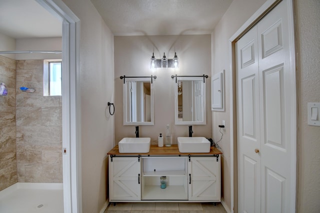
[[[159,133],[165,135],[166,124],[170,124],[172,141],[177,136],[188,136],[188,125],[174,124],[174,79],[171,75],[202,75],[206,78],[206,125],[192,125],[192,136],[211,137],[210,117],[210,35],[165,35],[165,36],[114,36],[114,86],[115,86],[115,142],[122,137],[134,137],[134,126],[123,125],[121,75],[156,75],[154,86],[154,125],[140,125],[139,136],[151,137],[151,143],[157,143]],[[151,71],[150,58],[154,51],[156,58],[163,52],[172,58],[174,52],[179,57],[180,67],[157,68]]]

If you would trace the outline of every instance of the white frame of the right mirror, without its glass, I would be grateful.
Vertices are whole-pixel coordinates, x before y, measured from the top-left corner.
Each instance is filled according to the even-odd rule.
[[[180,121],[178,120],[178,81],[190,81],[190,80],[201,80],[202,81],[202,120],[201,121]],[[203,77],[176,77],[174,79],[174,121],[176,125],[205,125],[206,124],[206,107],[205,107],[205,81],[203,82]],[[183,93],[183,89],[182,89]]]

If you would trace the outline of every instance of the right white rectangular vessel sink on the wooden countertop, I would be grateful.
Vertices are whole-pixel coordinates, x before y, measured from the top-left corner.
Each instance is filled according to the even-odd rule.
[[[205,137],[178,137],[179,152],[210,152],[210,141]]]

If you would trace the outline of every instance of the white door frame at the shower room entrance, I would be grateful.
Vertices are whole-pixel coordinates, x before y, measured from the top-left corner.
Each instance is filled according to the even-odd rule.
[[[62,167],[64,212],[82,212],[80,20],[62,0],[36,0],[62,23]]]

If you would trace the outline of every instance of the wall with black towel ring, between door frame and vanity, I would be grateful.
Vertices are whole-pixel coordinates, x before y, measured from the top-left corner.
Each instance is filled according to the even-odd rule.
[[[80,19],[82,212],[99,212],[107,199],[107,156],[113,147],[113,34],[89,0],[63,0]]]

